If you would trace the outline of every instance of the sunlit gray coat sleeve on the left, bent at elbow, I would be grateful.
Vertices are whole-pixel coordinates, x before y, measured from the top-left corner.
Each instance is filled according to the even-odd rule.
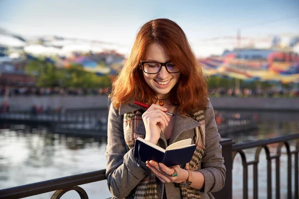
[[[145,177],[147,169],[138,167],[134,149],[128,150],[124,138],[123,116],[110,105],[106,148],[106,178],[113,196],[126,198]]]

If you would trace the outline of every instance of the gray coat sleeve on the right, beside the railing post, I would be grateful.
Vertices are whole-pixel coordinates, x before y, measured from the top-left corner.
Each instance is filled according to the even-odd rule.
[[[222,157],[222,146],[220,134],[215,121],[214,109],[209,102],[204,111],[205,118],[205,151],[201,159],[201,172],[204,176],[204,193],[220,191],[225,182],[226,168]],[[198,193],[202,193],[198,191]]]

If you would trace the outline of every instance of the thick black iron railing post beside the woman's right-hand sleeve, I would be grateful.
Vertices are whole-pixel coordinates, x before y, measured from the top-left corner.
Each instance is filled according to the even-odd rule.
[[[233,159],[232,159],[232,145],[234,142],[229,138],[222,138],[220,142],[222,146],[222,156],[224,158],[224,165],[226,168],[226,178],[225,178],[225,185],[222,190],[219,192],[213,193],[213,196],[216,199],[221,199],[225,196],[226,199],[232,199],[232,191],[233,191]]]

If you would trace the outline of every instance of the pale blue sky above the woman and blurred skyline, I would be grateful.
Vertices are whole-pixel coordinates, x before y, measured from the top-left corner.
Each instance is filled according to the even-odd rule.
[[[139,28],[169,18],[191,45],[215,37],[299,34],[299,0],[0,0],[0,28],[132,46]]]

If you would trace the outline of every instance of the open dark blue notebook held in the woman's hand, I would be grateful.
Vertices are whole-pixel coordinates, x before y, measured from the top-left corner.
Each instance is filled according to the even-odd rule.
[[[134,157],[142,162],[154,160],[158,163],[163,163],[167,167],[172,167],[190,162],[196,149],[195,144],[182,146],[178,149],[168,149],[166,151],[159,146],[151,145],[153,144],[149,144],[142,138],[136,139]]]

